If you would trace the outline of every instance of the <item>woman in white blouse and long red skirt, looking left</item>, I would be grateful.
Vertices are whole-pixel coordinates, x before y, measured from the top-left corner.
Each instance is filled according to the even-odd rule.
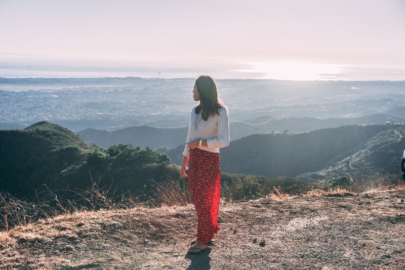
[[[229,145],[229,119],[225,105],[218,97],[215,81],[207,75],[195,80],[186,147],[180,176],[188,177],[191,198],[198,217],[197,238],[187,253],[206,250],[207,243],[218,232],[221,170],[219,149]],[[186,165],[188,174],[186,174]]]

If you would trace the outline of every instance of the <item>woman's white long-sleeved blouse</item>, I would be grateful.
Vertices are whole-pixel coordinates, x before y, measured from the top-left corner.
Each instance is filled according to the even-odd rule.
[[[229,145],[229,118],[228,111],[221,107],[219,115],[210,115],[207,121],[201,117],[201,112],[194,112],[195,105],[191,111],[190,124],[188,125],[187,141],[207,140],[208,146],[198,146],[199,149],[219,153],[219,149]],[[190,156],[190,148],[185,147],[183,156]]]

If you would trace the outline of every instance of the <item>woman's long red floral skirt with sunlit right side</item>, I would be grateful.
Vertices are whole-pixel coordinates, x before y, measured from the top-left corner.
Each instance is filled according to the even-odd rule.
[[[192,149],[188,163],[188,182],[198,217],[197,241],[205,245],[219,230],[218,211],[221,192],[219,153]]]

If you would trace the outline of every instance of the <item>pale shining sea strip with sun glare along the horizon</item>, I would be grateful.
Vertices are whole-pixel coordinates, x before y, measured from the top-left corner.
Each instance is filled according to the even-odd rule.
[[[361,66],[300,62],[242,62],[220,60],[112,61],[53,58],[0,53],[3,78],[196,78],[274,79],[293,81],[403,81],[405,66]]]

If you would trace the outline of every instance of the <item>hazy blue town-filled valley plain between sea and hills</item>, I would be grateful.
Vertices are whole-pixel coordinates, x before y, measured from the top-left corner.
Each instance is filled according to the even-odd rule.
[[[260,124],[270,119],[374,114],[405,118],[403,81],[229,79],[217,83],[231,122]],[[193,85],[193,79],[0,78],[0,127],[23,128],[44,120],[75,132],[188,126],[195,104]]]

